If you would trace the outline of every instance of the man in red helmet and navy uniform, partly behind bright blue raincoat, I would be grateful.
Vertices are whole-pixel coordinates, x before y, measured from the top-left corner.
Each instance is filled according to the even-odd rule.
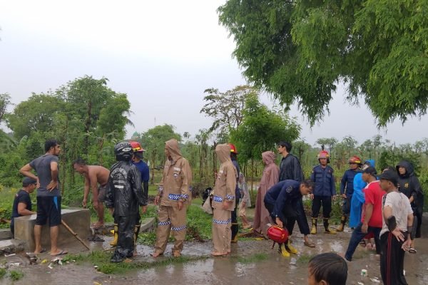
[[[354,177],[358,172],[362,171],[360,169],[362,165],[360,157],[354,155],[348,162],[350,169],[345,171],[340,181],[340,195],[342,195],[343,204],[342,217],[340,218],[340,226],[337,228],[337,232],[343,232],[343,229],[345,229],[345,224],[350,216],[352,195],[354,194]]]

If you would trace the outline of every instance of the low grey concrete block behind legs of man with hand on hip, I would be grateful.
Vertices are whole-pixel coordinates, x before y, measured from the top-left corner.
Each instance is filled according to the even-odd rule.
[[[91,236],[91,212],[89,209],[68,208],[61,209],[61,217],[74,232],[85,241]],[[15,239],[26,241],[26,251],[34,251],[34,224],[36,223],[36,215],[24,216],[15,218]],[[59,226],[58,247],[66,248],[71,242],[78,242],[61,224]],[[79,243],[80,244],[80,243]],[[49,224],[45,224],[41,228],[41,246],[46,249],[51,249],[51,233]],[[83,245],[82,245],[83,247]]]

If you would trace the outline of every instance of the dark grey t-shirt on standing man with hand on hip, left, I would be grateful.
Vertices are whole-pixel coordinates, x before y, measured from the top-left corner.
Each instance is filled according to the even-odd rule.
[[[46,187],[52,180],[51,162],[58,163],[58,157],[56,155],[42,155],[41,157],[37,157],[35,160],[30,162],[30,166],[36,170],[37,176],[39,177],[40,187],[37,190],[37,197],[61,196],[61,192],[59,191],[59,178],[58,186],[54,190],[51,192],[46,190]]]

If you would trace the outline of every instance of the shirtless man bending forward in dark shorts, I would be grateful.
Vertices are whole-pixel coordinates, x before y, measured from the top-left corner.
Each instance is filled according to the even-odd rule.
[[[106,185],[110,171],[100,165],[86,165],[85,160],[78,158],[73,161],[73,168],[85,178],[85,190],[83,192],[83,208],[86,208],[89,190],[92,189],[93,209],[98,215],[98,222],[93,227],[103,227],[104,206],[103,201],[106,195]],[[98,186],[99,184],[99,186]]]

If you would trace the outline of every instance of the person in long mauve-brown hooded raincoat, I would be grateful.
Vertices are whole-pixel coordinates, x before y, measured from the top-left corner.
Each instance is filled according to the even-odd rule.
[[[269,212],[263,203],[263,199],[265,199],[267,190],[278,182],[280,169],[275,165],[274,152],[263,152],[262,161],[265,164],[265,170],[263,170],[263,176],[260,180],[260,186],[255,200],[253,230],[254,232],[266,235],[265,224],[269,222]]]

